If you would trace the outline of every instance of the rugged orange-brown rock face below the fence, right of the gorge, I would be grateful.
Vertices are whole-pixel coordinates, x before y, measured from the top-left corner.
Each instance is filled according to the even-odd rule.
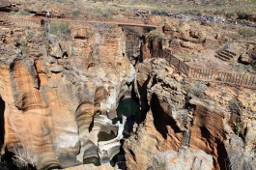
[[[185,79],[164,59],[145,60],[136,80],[145,117],[125,142],[128,169],[146,169],[149,157],[183,148],[211,155],[213,169],[231,166],[236,153],[245,157],[237,167],[254,167],[254,91]]]

